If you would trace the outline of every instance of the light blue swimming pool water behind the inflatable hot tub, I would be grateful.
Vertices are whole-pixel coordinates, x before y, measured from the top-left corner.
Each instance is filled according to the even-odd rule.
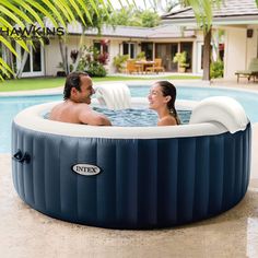
[[[146,96],[150,86],[130,86],[131,96]],[[238,101],[246,110],[251,122],[258,122],[258,93],[219,87],[191,87],[178,86],[178,99],[200,101],[208,96],[231,96]],[[60,101],[61,95],[43,96],[11,96],[0,97],[0,153],[9,153],[11,150],[11,122],[13,117],[22,109],[47,102]]]

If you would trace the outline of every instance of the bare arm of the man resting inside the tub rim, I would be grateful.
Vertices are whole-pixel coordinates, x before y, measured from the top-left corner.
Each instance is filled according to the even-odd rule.
[[[112,122],[106,116],[96,113],[92,109],[81,110],[79,114],[79,120],[82,124],[86,124],[90,126],[112,126]]]

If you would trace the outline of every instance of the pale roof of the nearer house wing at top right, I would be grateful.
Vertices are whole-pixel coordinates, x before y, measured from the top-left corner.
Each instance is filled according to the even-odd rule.
[[[184,22],[195,20],[191,8],[185,8],[162,16],[163,21]],[[258,23],[258,8],[255,0],[224,0],[220,8],[213,8],[213,23],[249,24]]]

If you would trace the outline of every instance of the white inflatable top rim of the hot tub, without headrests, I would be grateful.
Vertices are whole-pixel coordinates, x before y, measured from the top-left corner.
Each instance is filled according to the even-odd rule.
[[[43,118],[43,113],[50,110],[58,102],[28,107],[19,113],[14,122],[23,128],[70,137],[108,138],[108,139],[162,139],[178,137],[213,136],[227,129],[218,121],[166,127],[96,127],[69,122],[52,121]],[[132,106],[144,105],[145,98],[132,98]],[[177,108],[189,109],[194,102],[177,101]]]

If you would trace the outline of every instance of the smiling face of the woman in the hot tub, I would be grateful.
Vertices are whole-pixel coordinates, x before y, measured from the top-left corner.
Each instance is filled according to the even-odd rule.
[[[159,84],[154,84],[148,95],[149,108],[157,110],[161,107],[166,107],[171,96],[163,96],[162,87]]]

